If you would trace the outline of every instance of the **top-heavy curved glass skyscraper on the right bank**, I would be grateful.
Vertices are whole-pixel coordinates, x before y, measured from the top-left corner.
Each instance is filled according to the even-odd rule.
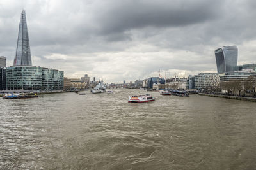
[[[223,46],[215,50],[218,74],[234,71],[237,66],[237,46]]]

